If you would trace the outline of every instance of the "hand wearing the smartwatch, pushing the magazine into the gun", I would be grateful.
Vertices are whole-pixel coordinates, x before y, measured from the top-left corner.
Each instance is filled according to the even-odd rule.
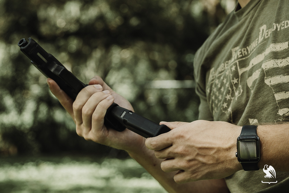
[[[165,159],[161,163],[163,171],[179,171],[174,176],[177,183],[220,179],[242,169],[235,156],[242,127],[205,120],[162,124],[172,131],[147,138],[145,144],[155,150],[157,158]]]

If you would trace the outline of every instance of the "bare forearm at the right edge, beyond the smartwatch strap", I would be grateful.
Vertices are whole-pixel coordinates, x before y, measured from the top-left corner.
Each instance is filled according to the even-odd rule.
[[[289,172],[289,124],[259,125],[257,135],[260,137],[259,168],[271,165],[275,170]]]

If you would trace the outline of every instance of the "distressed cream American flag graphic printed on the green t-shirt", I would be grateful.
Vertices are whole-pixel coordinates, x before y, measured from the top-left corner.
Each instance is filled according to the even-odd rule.
[[[272,88],[276,102],[279,107],[280,116],[289,116],[289,57],[284,59],[269,59],[269,54],[277,52],[288,52],[288,42],[271,43],[264,52],[251,58],[240,58],[232,61],[227,68],[210,70],[207,93],[213,115],[225,114],[229,120],[232,118],[232,104],[238,103],[238,97],[244,94],[245,86],[253,90],[256,80],[261,71],[265,73],[264,82]],[[233,52],[233,50],[232,50]],[[253,54],[252,51],[251,54]],[[282,55],[282,54],[281,54]],[[243,74],[246,73],[246,74]],[[242,75],[243,74],[243,75]],[[246,79],[246,85],[242,84]],[[257,123],[252,118],[249,122]]]

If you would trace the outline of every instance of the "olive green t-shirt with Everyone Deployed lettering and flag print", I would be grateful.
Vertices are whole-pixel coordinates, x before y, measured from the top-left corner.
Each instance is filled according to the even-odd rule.
[[[289,122],[289,1],[238,7],[196,53],[199,119],[240,126]],[[262,183],[265,175],[241,170],[226,183],[232,193],[289,189],[289,172],[276,171],[277,183],[270,184]]]

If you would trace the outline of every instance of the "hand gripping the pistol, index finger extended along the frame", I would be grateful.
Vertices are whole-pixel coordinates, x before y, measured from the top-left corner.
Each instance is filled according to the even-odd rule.
[[[133,108],[125,98],[114,92],[99,76],[95,76],[89,81],[89,86],[79,92],[75,101],[52,79],[48,78],[47,84],[75,122],[76,132],[79,136],[126,151],[140,151],[145,147],[145,138],[142,136],[128,129],[118,132],[103,125],[106,110],[113,102],[132,111]]]

